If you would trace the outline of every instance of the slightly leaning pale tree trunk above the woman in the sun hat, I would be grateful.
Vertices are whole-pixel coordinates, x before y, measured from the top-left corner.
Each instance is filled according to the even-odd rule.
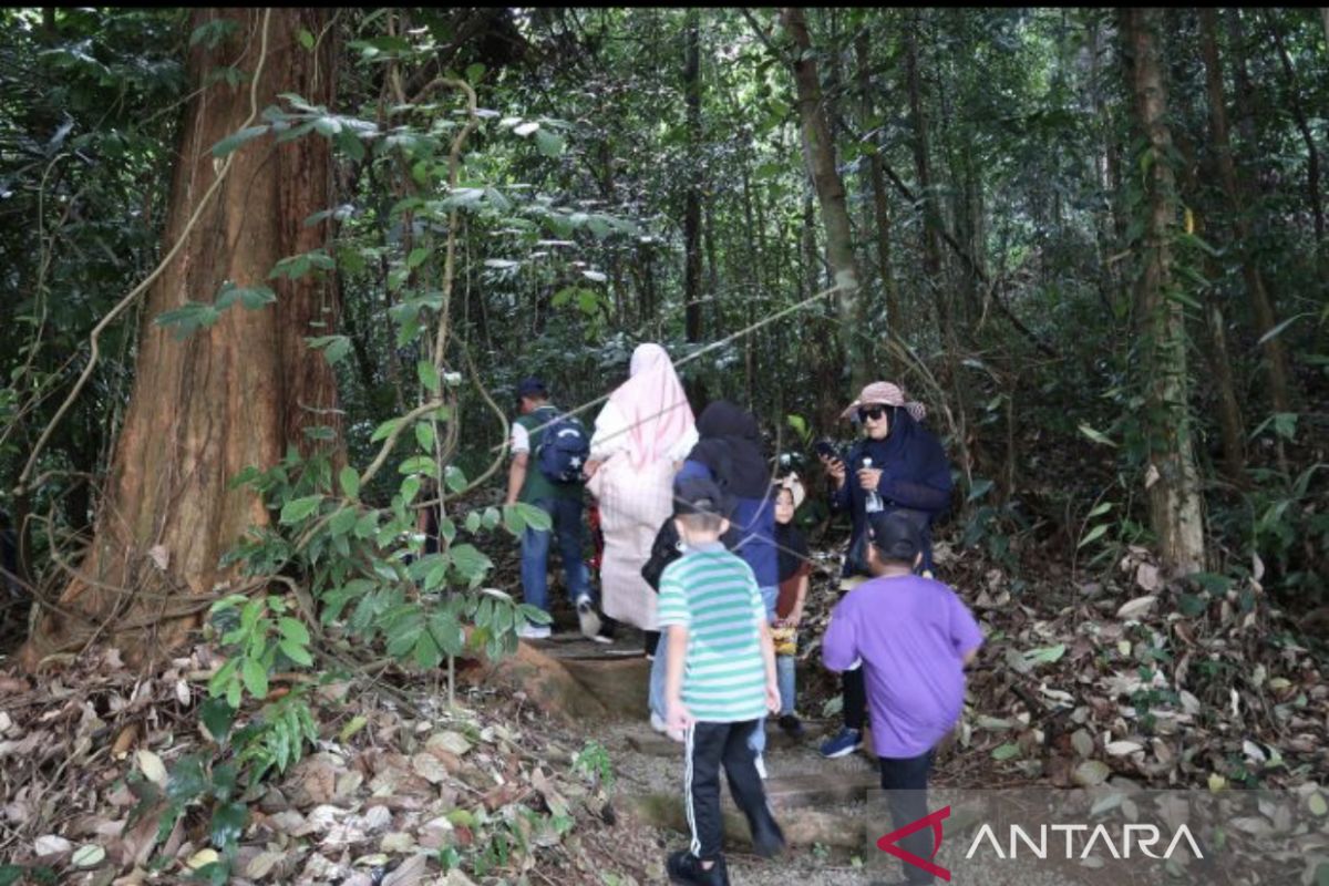
[[[812,37],[800,7],[780,11],[784,27],[793,39],[793,85],[799,97],[799,116],[803,120],[803,150],[812,173],[812,183],[821,203],[821,221],[827,228],[827,260],[835,274],[840,340],[849,361],[849,384],[857,393],[867,384],[870,368],[864,359],[859,340],[865,331],[859,321],[859,263],[853,256],[853,238],[849,230],[849,207],[844,197],[844,181],[836,165],[835,139],[823,106],[821,81],[812,54]]]

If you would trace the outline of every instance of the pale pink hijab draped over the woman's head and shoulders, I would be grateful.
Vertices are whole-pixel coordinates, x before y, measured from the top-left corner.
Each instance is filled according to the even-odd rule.
[[[651,343],[637,345],[629,375],[629,380],[609,395],[609,401],[627,420],[627,457],[639,470],[663,458],[695,422],[664,348]]]

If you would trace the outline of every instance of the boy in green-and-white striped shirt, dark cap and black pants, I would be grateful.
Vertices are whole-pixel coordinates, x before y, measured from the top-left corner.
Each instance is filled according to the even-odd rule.
[[[667,861],[674,883],[728,886],[720,766],[747,816],[752,846],[771,857],[784,834],[766,801],[748,737],[780,709],[775,647],[752,569],[720,543],[728,529],[724,494],[711,480],[674,487],[684,554],[661,575],[659,624],[668,634],[664,684],[670,729],[684,731],[684,800],[692,845]]]

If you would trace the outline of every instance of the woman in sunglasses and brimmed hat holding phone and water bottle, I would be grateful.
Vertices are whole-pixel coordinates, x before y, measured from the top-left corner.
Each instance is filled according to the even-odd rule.
[[[869,384],[841,413],[841,418],[857,416],[864,433],[847,458],[821,456],[836,487],[831,510],[848,510],[853,522],[843,590],[869,578],[864,555],[867,515],[876,510],[909,517],[922,537],[921,569],[932,573],[932,521],[950,506],[953,481],[941,442],[920,424],[926,414],[921,402],[908,401],[905,392],[889,381]],[[860,747],[867,707],[863,671],[845,671],[844,728],[821,745],[823,756],[843,757]]]

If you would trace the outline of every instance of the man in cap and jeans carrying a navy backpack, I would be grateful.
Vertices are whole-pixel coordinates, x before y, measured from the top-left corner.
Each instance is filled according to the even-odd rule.
[[[575,418],[561,416],[549,402],[549,389],[540,379],[517,385],[521,416],[512,424],[512,468],[508,470],[508,505],[521,501],[549,514],[552,530],[526,527],[521,538],[521,588],[532,606],[549,611],[549,545],[558,535],[567,594],[577,606],[582,634],[595,638],[599,618],[591,596],[590,576],[582,559],[582,466],[590,453],[590,437]],[[530,640],[550,635],[548,624],[526,624],[520,636]]]

